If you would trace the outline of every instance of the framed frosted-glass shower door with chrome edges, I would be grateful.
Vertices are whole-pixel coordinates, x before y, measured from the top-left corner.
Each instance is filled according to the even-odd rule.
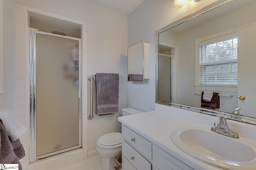
[[[81,41],[29,28],[30,162],[82,147]]]

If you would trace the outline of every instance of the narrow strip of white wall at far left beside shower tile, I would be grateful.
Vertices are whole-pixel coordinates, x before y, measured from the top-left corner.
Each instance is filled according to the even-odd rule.
[[[16,59],[15,59],[15,5],[14,0],[3,0],[3,96],[2,109],[16,112]]]

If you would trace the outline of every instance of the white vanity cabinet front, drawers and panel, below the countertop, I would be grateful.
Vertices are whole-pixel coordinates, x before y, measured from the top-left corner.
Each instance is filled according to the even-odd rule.
[[[122,170],[193,170],[122,124]]]

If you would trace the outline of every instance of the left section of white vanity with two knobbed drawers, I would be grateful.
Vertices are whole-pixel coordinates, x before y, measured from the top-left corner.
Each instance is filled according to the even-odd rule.
[[[122,170],[151,170],[152,143],[122,125]]]

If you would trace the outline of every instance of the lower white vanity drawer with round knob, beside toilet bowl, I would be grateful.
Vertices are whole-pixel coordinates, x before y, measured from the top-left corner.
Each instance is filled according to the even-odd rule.
[[[151,164],[124,140],[122,141],[122,154],[136,170],[151,170]]]

